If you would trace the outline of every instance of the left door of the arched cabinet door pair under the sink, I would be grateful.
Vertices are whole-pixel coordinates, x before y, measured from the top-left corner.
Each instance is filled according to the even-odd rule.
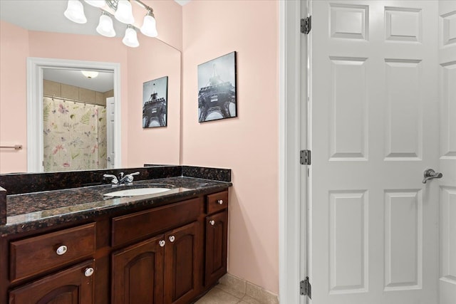
[[[163,235],[113,253],[112,303],[162,304]]]

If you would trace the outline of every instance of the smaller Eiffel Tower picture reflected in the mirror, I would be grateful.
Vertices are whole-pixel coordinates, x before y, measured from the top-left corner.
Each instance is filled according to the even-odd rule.
[[[168,76],[142,84],[142,127],[166,127]]]

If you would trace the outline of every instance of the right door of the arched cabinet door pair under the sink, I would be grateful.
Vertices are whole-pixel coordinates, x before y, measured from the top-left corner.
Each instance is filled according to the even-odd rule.
[[[198,222],[165,234],[165,303],[190,303],[201,283],[202,233]]]

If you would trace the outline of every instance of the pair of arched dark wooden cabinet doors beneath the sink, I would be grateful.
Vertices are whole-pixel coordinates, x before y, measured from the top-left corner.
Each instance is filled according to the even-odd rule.
[[[199,223],[113,253],[112,303],[190,303],[199,292]]]

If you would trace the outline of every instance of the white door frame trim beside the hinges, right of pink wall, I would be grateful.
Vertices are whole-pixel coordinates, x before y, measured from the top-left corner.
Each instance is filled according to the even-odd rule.
[[[306,256],[307,174],[299,163],[306,149],[307,116],[303,107],[308,78],[301,62],[301,1],[279,1],[279,302],[304,303],[299,282]],[[302,57],[301,57],[302,56]],[[304,187],[303,187],[304,186]]]

